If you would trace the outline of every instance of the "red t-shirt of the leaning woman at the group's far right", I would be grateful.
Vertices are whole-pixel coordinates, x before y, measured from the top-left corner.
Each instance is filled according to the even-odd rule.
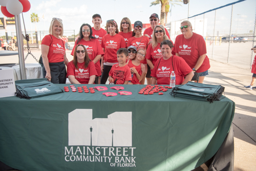
[[[195,67],[198,58],[206,54],[206,45],[203,36],[194,33],[192,37],[186,39],[183,34],[180,34],[175,39],[175,52],[187,62],[188,66],[192,69]],[[197,70],[197,73],[204,72],[210,68],[209,58],[204,58],[202,65]]]

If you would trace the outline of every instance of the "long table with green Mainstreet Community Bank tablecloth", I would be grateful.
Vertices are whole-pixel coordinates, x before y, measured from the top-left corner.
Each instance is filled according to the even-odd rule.
[[[234,116],[228,98],[138,94],[144,85],[106,97],[119,91],[97,86],[108,90],[0,98],[0,161],[20,170],[191,170],[216,154]]]

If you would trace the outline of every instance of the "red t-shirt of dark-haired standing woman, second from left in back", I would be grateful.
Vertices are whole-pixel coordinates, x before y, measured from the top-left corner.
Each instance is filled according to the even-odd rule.
[[[99,44],[99,40],[96,38],[92,38],[89,41],[84,40],[83,38],[78,42],[78,45],[84,45],[86,47],[86,50],[88,52],[89,58],[93,60],[97,55],[104,55],[104,52]],[[71,52],[71,55],[74,55],[74,50],[76,48],[77,43],[75,42],[75,46]],[[101,75],[101,69],[100,69],[100,61],[98,60],[95,63],[95,68],[97,71],[97,76]]]

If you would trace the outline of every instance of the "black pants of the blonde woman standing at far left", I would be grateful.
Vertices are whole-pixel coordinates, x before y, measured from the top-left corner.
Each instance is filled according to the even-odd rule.
[[[66,83],[66,66],[64,62],[56,62],[56,63],[49,63],[50,71],[51,71],[51,82],[52,83]],[[42,75],[44,78],[46,77],[46,69],[45,66],[42,67]]]

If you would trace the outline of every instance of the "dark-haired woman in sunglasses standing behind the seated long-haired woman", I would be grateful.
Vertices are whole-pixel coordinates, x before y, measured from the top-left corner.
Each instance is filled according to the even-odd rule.
[[[75,42],[75,46],[71,52],[74,55],[75,47],[78,44],[84,45],[87,49],[89,58],[94,62],[97,76],[101,75],[100,58],[104,54],[99,40],[92,36],[92,27],[89,24],[82,24],[80,27],[79,38]]]

